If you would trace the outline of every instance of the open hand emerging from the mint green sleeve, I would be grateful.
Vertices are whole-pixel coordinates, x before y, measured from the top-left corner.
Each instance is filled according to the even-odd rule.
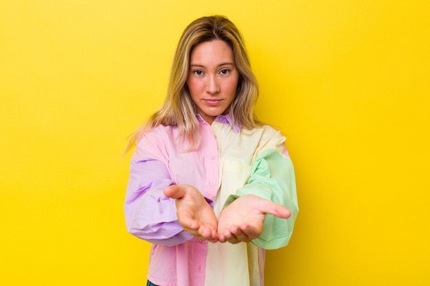
[[[260,237],[266,213],[284,219],[291,216],[291,212],[280,204],[256,195],[243,195],[221,211],[218,241],[240,243]]]

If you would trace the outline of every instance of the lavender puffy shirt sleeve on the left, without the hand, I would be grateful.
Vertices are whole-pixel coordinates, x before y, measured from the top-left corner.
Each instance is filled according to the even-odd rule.
[[[150,243],[175,246],[192,239],[177,218],[174,200],[163,189],[174,184],[163,163],[152,158],[131,159],[124,213],[129,233]]]

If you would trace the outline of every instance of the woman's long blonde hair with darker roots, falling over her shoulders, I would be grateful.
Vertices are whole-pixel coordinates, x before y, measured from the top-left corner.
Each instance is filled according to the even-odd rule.
[[[131,134],[126,151],[130,150],[151,128],[160,124],[177,126],[182,139],[191,143],[191,150],[199,146],[200,125],[186,80],[192,50],[200,43],[212,40],[223,40],[231,47],[234,62],[239,71],[236,97],[229,108],[232,121],[242,128],[255,128],[262,125],[253,112],[253,106],[258,98],[258,82],[251,70],[242,35],[227,17],[205,16],[194,20],[183,31],[174,53],[166,98],[161,108]]]

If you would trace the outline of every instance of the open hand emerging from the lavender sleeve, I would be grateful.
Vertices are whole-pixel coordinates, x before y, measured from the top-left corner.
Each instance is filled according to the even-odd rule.
[[[200,240],[218,241],[216,215],[198,189],[189,184],[172,185],[164,195],[176,201],[179,223]]]

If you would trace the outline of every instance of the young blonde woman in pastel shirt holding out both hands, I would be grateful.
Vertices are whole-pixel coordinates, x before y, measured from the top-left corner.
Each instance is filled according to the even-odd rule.
[[[185,28],[165,102],[133,134],[125,215],[152,244],[148,285],[261,286],[264,250],[297,216],[285,138],[256,120],[258,84],[237,27]]]

